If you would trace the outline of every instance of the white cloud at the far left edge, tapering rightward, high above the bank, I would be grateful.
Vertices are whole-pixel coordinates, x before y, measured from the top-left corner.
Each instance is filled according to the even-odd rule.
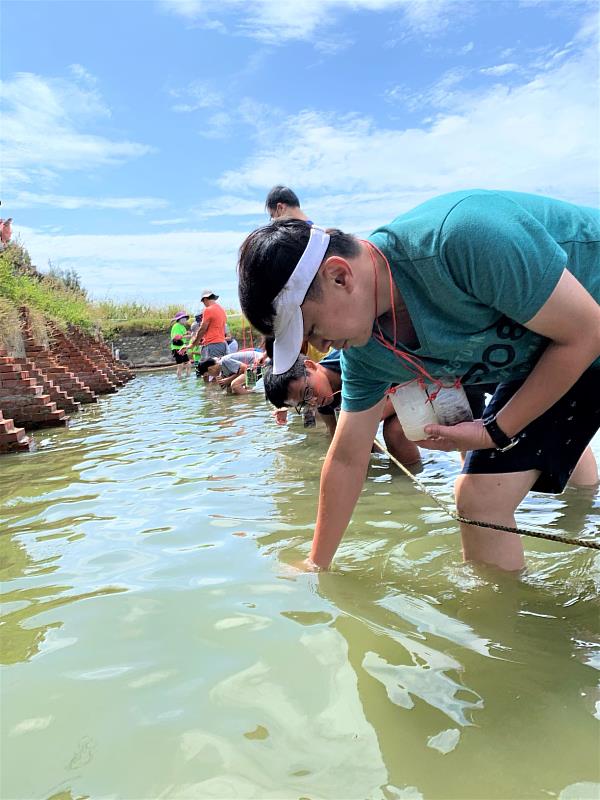
[[[151,152],[147,145],[85,133],[84,125],[110,116],[89,80],[85,85],[28,72],[0,83],[0,145],[13,181],[48,182],[61,171],[93,169]]]

